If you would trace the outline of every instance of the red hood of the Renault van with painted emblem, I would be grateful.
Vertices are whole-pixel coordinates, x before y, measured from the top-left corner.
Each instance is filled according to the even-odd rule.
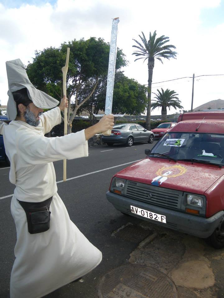
[[[140,183],[203,194],[223,174],[224,168],[216,165],[174,162],[153,157],[141,160],[115,176]]]

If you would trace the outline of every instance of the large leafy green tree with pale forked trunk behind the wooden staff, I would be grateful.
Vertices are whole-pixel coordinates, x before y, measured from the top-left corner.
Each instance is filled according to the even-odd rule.
[[[91,37],[88,40],[80,39],[63,43],[59,48],[47,48],[35,52],[33,62],[27,66],[27,75],[34,86],[54,98],[60,100],[63,95],[62,66],[65,65],[67,47],[70,48],[69,65],[67,73],[68,97],[68,133],[71,133],[72,121],[77,110],[90,99],[99,81],[100,75],[108,70],[110,44],[102,38]],[[127,61],[122,50],[118,49],[116,69],[125,66]],[[85,97],[80,97],[80,90],[93,82],[92,88]],[[73,111],[71,113],[71,104]],[[71,115],[70,115],[71,114]]]

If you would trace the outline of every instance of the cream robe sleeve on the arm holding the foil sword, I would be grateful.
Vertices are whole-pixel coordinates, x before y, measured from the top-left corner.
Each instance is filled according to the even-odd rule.
[[[40,165],[56,160],[88,156],[88,142],[84,129],[55,138],[46,138],[25,129],[17,134],[16,147],[24,165]]]

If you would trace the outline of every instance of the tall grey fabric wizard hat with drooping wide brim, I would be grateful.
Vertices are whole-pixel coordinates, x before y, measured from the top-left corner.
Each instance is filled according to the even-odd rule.
[[[6,61],[6,71],[9,88],[7,93],[9,96],[7,103],[7,116],[9,120],[15,120],[17,115],[16,102],[12,92],[22,88],[27,88],[28,97],[38,108],[51,109],[58,105],[58,100],[34,87],[30,82],[26,74],[26,68],[20,59]]]

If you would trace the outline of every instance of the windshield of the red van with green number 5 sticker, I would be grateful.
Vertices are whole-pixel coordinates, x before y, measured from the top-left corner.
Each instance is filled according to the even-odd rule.
[[[175,160],[224,165],[224,134],[169,132],[157,142],[149,156],[157,153]]]

